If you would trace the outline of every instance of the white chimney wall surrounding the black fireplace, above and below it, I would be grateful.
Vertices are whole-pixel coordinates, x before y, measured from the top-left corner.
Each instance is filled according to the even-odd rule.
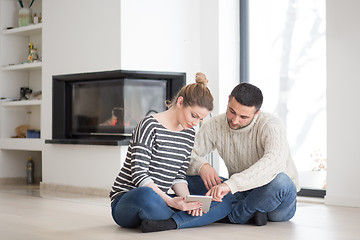
[[[177,71],[194,82],[195,73],[202,71],[210,79],[218,112],[219,0],[43,1],[45,139],[51,138],[51,76],[56,74]],[[231,65],[237,61],[227,60]],[[109,189],[125,149],[46,144],[43,182]]]

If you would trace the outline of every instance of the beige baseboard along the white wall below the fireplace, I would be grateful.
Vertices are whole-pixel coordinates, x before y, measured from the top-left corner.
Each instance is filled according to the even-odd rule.
[[[76,193],[76,194],[99,196],[99,197],[108,197],[110,190],[41,182],[40,195],[41,193],[46,193],[46,192],[64,192],[64,193]]]

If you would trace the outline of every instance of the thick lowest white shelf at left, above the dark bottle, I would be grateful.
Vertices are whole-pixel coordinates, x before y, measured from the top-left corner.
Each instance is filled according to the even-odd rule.
[[[44,140],[41,138],[2,138],[0,149],[42,151]]]

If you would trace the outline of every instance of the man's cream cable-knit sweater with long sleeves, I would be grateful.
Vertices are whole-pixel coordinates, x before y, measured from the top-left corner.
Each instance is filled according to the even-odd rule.
[[[246,127],[233,130],[226,114],[205,122],[196,134],[188,174],[198,174],[205,156],[217,149],[229,172],[231,192],[254,189],[286,173],[300,190],[286,131],[274,115],[260,112]]]

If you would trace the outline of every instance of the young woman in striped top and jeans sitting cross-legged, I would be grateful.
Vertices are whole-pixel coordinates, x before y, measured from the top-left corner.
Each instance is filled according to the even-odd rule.
[[[141,225],[143,232],[195,227],[231,211],[226,198],[213,202],[206,214],[200,202],[185,202],[193,127],[213,109],[207,82],[204,74],[197,73],[196,83],[183,87],[167,111],[145,117],[134,129],[125,163],[110,192],[112,216],[118,225]],[[167,194],[170,188],[175,196]]]

